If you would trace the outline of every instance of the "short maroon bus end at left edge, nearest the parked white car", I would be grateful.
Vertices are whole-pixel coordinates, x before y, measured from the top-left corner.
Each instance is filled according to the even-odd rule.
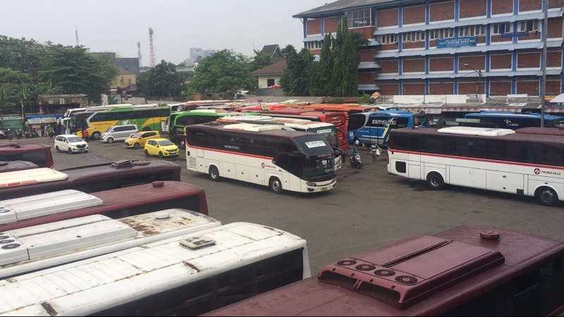
[[[51,146],[0,142],[0,161],[30,161],[40,168],[55,168]]]

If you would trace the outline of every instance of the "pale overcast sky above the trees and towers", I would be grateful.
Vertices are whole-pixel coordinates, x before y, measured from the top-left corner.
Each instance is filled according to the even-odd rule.
[[[302,49],[303,26],[292,15],[333,0],[1,0],[0,35],[39,43],[80,45],[137,57],[149,66],[149,27],[155,63],[178,64],[190,48],[233,49],[254,56],[254,49],[292,44]]]

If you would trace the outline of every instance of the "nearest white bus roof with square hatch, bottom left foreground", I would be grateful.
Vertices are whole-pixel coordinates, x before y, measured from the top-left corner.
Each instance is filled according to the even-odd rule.
[[[190,249],[190,240],[212,244]],[[85,316],[204,280],[233,268],[302,249],[311,276],[307,243],[283,230],[230,223],[111,254],[0,281],[1,315]]]

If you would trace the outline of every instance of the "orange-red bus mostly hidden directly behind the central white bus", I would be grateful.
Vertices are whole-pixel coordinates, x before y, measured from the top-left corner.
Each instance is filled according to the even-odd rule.
[[[347,141],[347,119],[345,113],[339,111],[312,111],[311,109],[295,108],[295,107],[285,107],[276,108],[273,110],[241,110],[242,113],[262,113],[265,116],[278,117],[278,118],[295,118],[311,120],[315,122],[331,123],[337,128],[337,136],[339,147],[343,151],[348,149]]]

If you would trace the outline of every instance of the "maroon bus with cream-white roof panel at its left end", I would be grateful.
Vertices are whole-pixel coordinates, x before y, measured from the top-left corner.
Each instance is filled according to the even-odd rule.
[[[90,193],[147,184],[155,180],[180,181],[180,170],[178,164],[161,160],[123,160],[65,168],[59,171],[47,168],[17,170],[0,173],[0,199],[18,198],[63,189],[76,189]]]

